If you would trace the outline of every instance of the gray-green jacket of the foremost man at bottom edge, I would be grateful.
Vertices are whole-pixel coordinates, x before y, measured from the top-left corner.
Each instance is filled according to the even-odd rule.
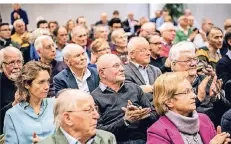
[[[38,144],[69,144],[67,138],[64,136],[60,128],[50,137],[42,140]],[[107,131],[96,130],[92,144],[116,144],[115,136]]]

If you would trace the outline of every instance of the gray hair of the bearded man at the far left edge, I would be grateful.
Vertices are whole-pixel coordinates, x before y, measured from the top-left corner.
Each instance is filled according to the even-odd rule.
[[[6,57],[7,52],[17,53],[20,56],[21,60],[23,61],[22,53],[18,48],[15,48],[12,46],[8,46],[6,48],[3,48],[0,50],[0,71],[2,71],[2,64],[5,61],[5,57]]]

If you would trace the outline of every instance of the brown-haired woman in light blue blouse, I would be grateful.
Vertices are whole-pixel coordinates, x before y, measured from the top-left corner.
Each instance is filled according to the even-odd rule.
[[[22,68],[16,85],[20,102],[6,112],[6,144],[31,144],[54,133],[55,99],[46,98],[49,91],[50,67],[30,61]]]

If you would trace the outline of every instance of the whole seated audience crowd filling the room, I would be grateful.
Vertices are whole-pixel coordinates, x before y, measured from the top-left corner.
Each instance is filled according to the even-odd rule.
[[[228,144],[231,19],[190,9],[88,27],[13,4],[0,22],[0,144]],[[29,13],[28,13],[29,14]],[[13,28],[11,28],[13,25]]]

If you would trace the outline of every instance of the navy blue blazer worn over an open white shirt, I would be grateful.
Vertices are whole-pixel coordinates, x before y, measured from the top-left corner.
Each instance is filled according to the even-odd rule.
[[[87,68],[91,72],[91,76],[87,78],[87,85],[89,88],[89,91],[92,92],[95,90],[99,85],[99,75],[95,68],[88,67]],[[76,79],[74,75],[72,74],[70,68],[66,68],[60,73],[58,73],[53,78],[54,88],[55,88],[55,94],[66,88],[73,88],[78,89],[78,84],[76,82]]]

